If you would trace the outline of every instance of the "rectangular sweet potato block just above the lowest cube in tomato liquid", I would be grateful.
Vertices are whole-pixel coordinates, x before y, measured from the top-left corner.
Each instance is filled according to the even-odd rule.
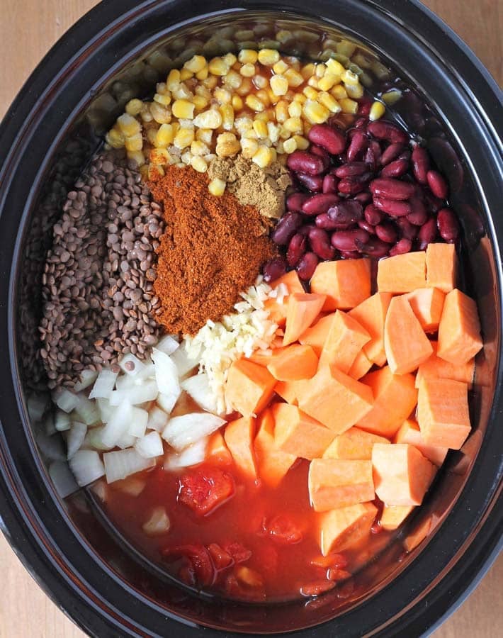
[[[307,483],[316,512],[366,503],[374,498],[371,461],[314,459]]]

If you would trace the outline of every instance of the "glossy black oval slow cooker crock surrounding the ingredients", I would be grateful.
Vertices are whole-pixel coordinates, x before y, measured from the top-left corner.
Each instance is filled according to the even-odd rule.
[[[121,104],[154,86],[166,50],[178,47],[183,57],[194,42],[213,37],[227,51],[242,24],[262,40],[276,25],[354,38],[412,87],[396,117],[421,135],[448,175],[463,220],[465,284],[482,318],[473,434],[451,454],[411,522],[429,515],[433,531],[406,556],[400,542],[386,549],[347,598],[336,590],[253,606],[183,590],[135,556],[87,493],[71,508],[60,500],[26,407],[44,386],[36,357],[38,284],[62,197]],[[302,37],[285,46],[312,55]],[[302,637],[416,636],[475,586],[501,547],[503,523],[501,122],[497,86],[417,1],[103,2],[55,45],[0,129],[0,514],[23,563],[78,625],[101,638],[293,630]]]

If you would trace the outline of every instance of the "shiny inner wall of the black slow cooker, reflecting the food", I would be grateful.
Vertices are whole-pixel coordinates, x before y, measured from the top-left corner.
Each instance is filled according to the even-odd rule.
[[[147,45],[138,47],[132,57],[114,61],[113,72],[104,72],[101,85],[96,91],[93,90],[84,108],[69,118],[62,128],[57,148],[50,150],[47,155],[43,174],[33,185],[35,191],[32,192],[36,196],[30,206],[29,217],[19,230],[12,315],[13,347],[18,379],[21,380],[21,395],[27,405],[30,396],[46,393],[45,374],[38,355],[38,323],[41,276],[45,253],[52,240],[51,228],[60,216],[60,206],[67,191],[72,189],[75,179],[101,145],[103,133],[122,112],[124,104],[132,97],[151,94],[154,84],[164,79],[171,67],[179,67],[195,53],[202,52],[207,57],[213,57],[239,50],[240,47],[259,46],[279,48],[287,54],[312,60],[324,60],[330,52],[345,55],[353,48],[351,43],[357,45],[353,59],[356,55],[355,61],[359,62],[363,72],[362,81],[371,93],[378,94],[383,87],[388,86],[385,83],[392,83],[405,91],[403,99],[392,107],[392,111],[398,121],[424,140],[450,182],[451,204],[463,224],[460,257],[465,289],[477,299],[485,340],[484,354],[477,360],[477,376],[471,396],[473,433],[460,452],[450,452],[424,506],[400,531],[396,541],[361,569],[356,576],[354,590],[336,588],[321,598],[284,605],[251,606],[187,591],[171,581],[162,569],[147,564],[134,548],[120,538],[103,517],[90,492],[81,491],[60,503],[63,524],[73,527],[82,556],[87,552],[93,556],[93,561],[97,560],[101,565],[96,569],[104,569],[109,575],[113,573],[115,576],[112,578],[118,579],[124,587],[132,588],[145,605],[154,605],[154,608],[161,608],[169,615],[178,615],[227,631],[261,633],[310,627],[340,615],[363,598],[382,590],[412,561],[422,561],[421,554],[428,552],[429,539],[448,518],[476,464],[498,375],[501,299],[497,281],[499,254],[492,239],[487,201],[481,196],[475,180],[475,158],[468,156],[463,146],[463,131],[458,128],[458,123],[464,117],[463,111],[469,105],[463,104],[463,98],[458,97],[456,111],[456,107],[452,106],[456,101],[455,95],[446,98],[440,91],[426,94],[421,82],[413,77],[413,52],[401,68],[397,67],[395,51],[388,52],[387,56],[384,45],[381,44],[379,50],[373,49],[366,38],[358,38],[356,33],[351,33],[351,29],[339,28],[321,18],[306,18],[300,14],[292,16],[288,13],[231,11],[225,15],[191,21],[172,33],[159,33]],[[78,73],[78,65],[76,69]],[[441,85],[442,73],[442,69],[432,67],[432,85],[435,82]],[[82,86],[82,93],[86,93],[87,89],[87,86]],[[453,86],[447,85],[445,90],[456,91]],[[35,441],[40,442],[43,425],[32,421],[30,430]],[[45,455],[36,444],[33,453],[35,458],[40,454],[37,463],[45,463]],[[25,471],[29,472],[30,469]],[[47,475],[43,476],[43,481],[45,486],[41,489],[44,492],[48,490],[47,498],[58,499]],[[431,515],[429,538],[405,555],[403,537]],[[468,527],[473,527],[475,522],[475,518],[470,520]],[[72,544],[72,549],[68,550],[74,556],[77,546]],[[82,560],[82,556],[77,560]],[[72,561],[72,555],[69,561]],[[103,594],[106,597],[106,593]]]

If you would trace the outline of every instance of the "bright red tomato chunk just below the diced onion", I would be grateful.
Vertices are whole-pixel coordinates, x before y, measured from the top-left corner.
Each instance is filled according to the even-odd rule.
[[[213,512],[234,494],[234,478],[218,467],[205,466],[179,478],[178,500],[196,514]]]

